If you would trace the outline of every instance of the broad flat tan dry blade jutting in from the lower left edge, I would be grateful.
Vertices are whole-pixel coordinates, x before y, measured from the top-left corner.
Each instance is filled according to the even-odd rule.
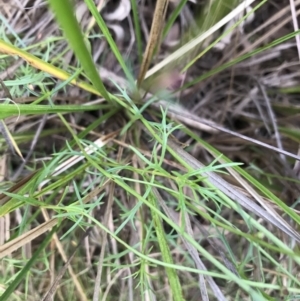
[[[37,226],[36,228],[16,237],[15,239],[9,241],[8,243],[0,246],[0,259],[16,251],[20,247],[31,242],[35,238],[39,237],[49,229],[53,228],[57,224],[58,219],[53,218],[43,224]]]

